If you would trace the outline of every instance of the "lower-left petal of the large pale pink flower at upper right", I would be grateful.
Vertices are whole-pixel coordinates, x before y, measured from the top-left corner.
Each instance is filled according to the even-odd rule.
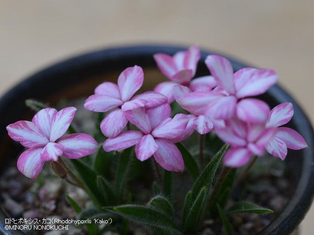
[[[229,119],[235,116],[235,96],[223,96],[210,102],[206,114],[215,119]]]

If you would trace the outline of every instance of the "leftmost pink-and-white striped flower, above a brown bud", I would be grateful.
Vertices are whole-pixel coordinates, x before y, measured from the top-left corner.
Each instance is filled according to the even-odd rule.
[[[29,149],[18,159],[18,169],[29,178],[36,178],[45,161],[57,161],[59,156],[74,159],[97,150],[97,142],[86,134],[62,137],[69,128],[76,108],[60,110],[46,108],[39,111],[32,121],[18,121],[6,127],[14,141]]]

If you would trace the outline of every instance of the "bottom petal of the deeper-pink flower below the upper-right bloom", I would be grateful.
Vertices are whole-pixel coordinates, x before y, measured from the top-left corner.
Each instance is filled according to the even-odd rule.
[[[250,153],[246,148],[231,148],[224,157],[224,164],[229,167],[240,167],[250,161]]]

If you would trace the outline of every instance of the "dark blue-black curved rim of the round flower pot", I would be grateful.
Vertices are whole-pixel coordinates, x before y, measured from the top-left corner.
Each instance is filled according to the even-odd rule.
[[[137,58],[139,56],[148,57],[155,53],[167,53],[174,54],[179,50],[184,50],[186,47],[177,47],[169,45],[151,45],[151,44],[141,44],[134,46],[122,46],[122,47],[110,47],[100,50],[95,50],[85,54],[77,55],[71,57],[70,59],[63,60],[52,66],[47,67],[41,71],[30,75],[24,81],[20,82],[8,92],[6,92],[0,98],[0,113],[5,113],[7,108],[10,107],[12,100],[19,99],[21,93],[25,93],[28,88],[32,86],[38,86],[37,84],[46,79],[47,77],[52,78],[57,74],[64,74],[68,71],[78,70],[78,68],[88,68],[88,66],[93,64],[104,64],[107,63],[119,63],[120,61],[132,60],[132,58]],[[204,61],[208,54],[214,54],[206,50],[201,51],[201,60]],[[220,54],[220,53],[217,53]],[[226,56],[232,63],[234,70],[239,70],[244,67],[249,67],[237,60],[231,59]],[[143,63],[145,60],[143,60]],[[111,68],[111,70],[113,70]],[[304,218],[306,212],[309,210],[313,196],[314,196],[314,131],[305,113],[302,111],[301,107],[297,102],[280,86],[275,85],[268,90],[267,94],[274,97],[276,101],[291,102],[294,106],[294,118],[293,124],[296,126],[297,131],[304,137],[308,143],[308,148],[302,150],[303,162],[301,165],[301,173],[299,180],[297,182],[295,191],[288,201],[285,209],[271,221],[258,235],[287,235],[293,232],[293,230],[298,226],[298,224]],[[3,117],[1,117],[3,119]],[[1,129],[5,128],[8,120],[0,121]],[[2,135],[2,130],[0,130],[0,135]],[[3,139],[0,137],[0,140]],[[300,154],[301,155],[301,154]],[[0,231],[7,233],[4,230],[4,213],[0,211]],[[17,231],[8,234],[20,234]]]

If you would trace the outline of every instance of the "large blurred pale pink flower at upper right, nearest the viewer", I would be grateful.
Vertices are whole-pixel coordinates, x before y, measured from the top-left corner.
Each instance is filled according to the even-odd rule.
[[[205,63],[218,86],[213,90],[215,94],[207,94],[203,99],[212,100],[217,94],[224,95],[207,105],[209,113],[213,113],[218,119],[228,119],[236,115],[240,120],[251,123],[266,121],[269,106],[262,100],[245,97],[263,94],[273,86],[277,81],[275,71],[244,68],[233,73],[229,60],[219,55],[209,55]]]

